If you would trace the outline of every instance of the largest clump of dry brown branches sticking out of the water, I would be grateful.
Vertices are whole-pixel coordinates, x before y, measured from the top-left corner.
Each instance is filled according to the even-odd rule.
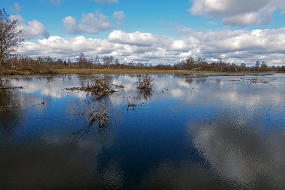
[[[87,75],[86,86],[64,88],[64,90],[80,90],[85,92],[94,92],[96,95],[110,94],[118,92],[117,89],[125,88],[125,85],[114,85],[110,75]]]

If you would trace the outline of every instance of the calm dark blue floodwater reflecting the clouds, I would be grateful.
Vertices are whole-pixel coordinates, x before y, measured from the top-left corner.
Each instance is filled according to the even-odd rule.
[[[125,90],[105,97],[62,90],[83,75],[12,77],[0,189],[284,189],[284,74],[152,75],[150,92],[112,77]],[[107,126],[76,117],[102,105]]]

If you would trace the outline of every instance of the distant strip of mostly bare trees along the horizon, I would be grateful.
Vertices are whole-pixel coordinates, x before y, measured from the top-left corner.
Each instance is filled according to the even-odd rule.
[[[105,55],[99,58],[98,55],[87,59],[83,52],[80,53],[76,62],[69,59],[62,60],[50,56],[28,57],[15,56],[5,63],[5,68],[28,68],[28,69],[152,69],[152,70],[203,70],[203,71],[285,71],[283,66],[267,66],[266,62],[257,60],[255,66],[247,67],[245,63],[240,65],[235,63],[223,62],[221,58],[217,62],[206,62],[205,58],[187,58],[173,65],[170,64],[152,64],[141,61],[135,63],[120,63],[113,56]]]

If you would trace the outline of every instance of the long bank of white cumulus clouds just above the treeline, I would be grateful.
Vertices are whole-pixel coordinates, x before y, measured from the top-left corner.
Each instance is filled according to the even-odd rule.
[[[112,55],[121,62],[174,64],[179,58],[201,57],[213,61],[221,57],[225,62],[245,62],[247,66],[253,66],[256,60],[277,65],[285,62],[285,27],[207,32],[191,30],[191,35],[181,36],[179,40],[139,31],[113,30],[107,40],[50,36],[37,43],[26,42],[25,50],[18,51],[30,56],[50,55],[74,60],[84,52],[87,57]]]

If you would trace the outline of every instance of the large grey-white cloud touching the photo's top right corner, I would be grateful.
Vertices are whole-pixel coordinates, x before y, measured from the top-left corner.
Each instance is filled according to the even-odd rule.
[[[221,18],[225,25],[245,27],[268,24],[278,9],[284,12],[284,1],[194,0],[188,11],[193,15]]]

